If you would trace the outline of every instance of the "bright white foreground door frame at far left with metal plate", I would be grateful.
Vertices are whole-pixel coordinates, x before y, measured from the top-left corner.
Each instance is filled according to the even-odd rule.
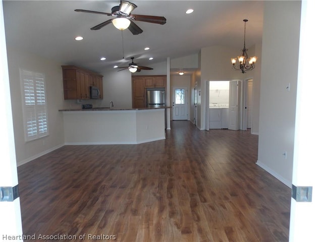
[[[5,201],[0,200],[0,214],[3,218],[0,221],[0,234],[2,234],[1,236],[3,237],[5,234],[20,235],[23,232],[19,192],[18,190],[17,193],[13,192],[14,188],[17,188],[18,186],[18,172],[10,97],[3,1],[0,2],[0,42],[3,44],[3,47],[0,50],[0,66],[2,67],[0,68],[0,75],[3,77],[3,81],[0,82],[0,99],[2,103],[6,103],[0,118],[0,124],[6,131],[2,135],[3,145],[1,147],[1,153],[3,160],[0,162],[0,170],[2,171],[0,176],[0,187],[6,189],[9,194],[13,195],[5,196],[7,197]],[[15,241],[23,240],[17,238]]]

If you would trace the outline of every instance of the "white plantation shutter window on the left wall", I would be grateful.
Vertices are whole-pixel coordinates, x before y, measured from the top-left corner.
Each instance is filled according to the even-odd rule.
[[[25,141],[48,135],[45,77],[20,70],[23,92]]]

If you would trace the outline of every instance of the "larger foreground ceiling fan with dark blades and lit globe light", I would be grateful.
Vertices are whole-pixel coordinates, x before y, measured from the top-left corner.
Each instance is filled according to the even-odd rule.
[[[132,34],[137,35],[142,33],[143,30],[138,25],[136,25],[133,22],[133,20],[148,22],[153,24],[166,24],[165,17],[131,14],[131,11],[134,10],[135,8],[137,8],[135,4],[122,0],[120,1],[119,6],[115,6],[111,9],[112,13],[102,13],[102,12],[96,12],[91,10],[83,10],[83,9],[76,9],[75,11],[92,13],[92,14],[103,14],[103,15],[115,17],[115,19],[109,19],[103,23],[100,23],[92,27],[91,30],[98,30],[110,23],[113,23],[113,25],[116,28],[120,30],[124,30],[128,28]]]

